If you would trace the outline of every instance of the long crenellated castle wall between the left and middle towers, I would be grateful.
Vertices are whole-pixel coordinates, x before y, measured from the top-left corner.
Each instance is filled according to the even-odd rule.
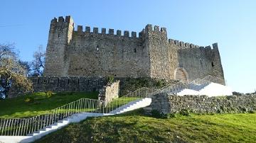
[[[80,26],[73,33],[73,39],[67,48],[69,76],[104,77],[141,77],[149,76],[149,55],[142,46],[142,38],[135,32],[110,29],[108,33],[98,33],[97,28]],[[102,30],[102,31],[105,31]]]

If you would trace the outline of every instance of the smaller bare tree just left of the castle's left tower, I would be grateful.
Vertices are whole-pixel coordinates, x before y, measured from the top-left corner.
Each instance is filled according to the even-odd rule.
[[[38,51],[34,52],[33,58],[31,62],[32,76],[42,76],[46,61],[46,52],[42,45],[38,47]]]

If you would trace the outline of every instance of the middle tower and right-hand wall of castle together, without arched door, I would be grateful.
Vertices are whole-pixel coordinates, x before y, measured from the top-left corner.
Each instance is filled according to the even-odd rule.
[[[146,25],[151,77],[175,79],[176,69],[186,70],[189,81],[212,75],[224,79],[218,44],[199,47],[188,42],[167,40],[165,28]]]

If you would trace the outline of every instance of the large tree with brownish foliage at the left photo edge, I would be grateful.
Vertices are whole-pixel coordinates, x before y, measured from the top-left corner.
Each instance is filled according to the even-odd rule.
[[[32,84],[26,74],[26,69],[18,62],[18,53],[14,45],[0,44],[0,99],[8,98],[12,84],[24,91],[30,91]]]

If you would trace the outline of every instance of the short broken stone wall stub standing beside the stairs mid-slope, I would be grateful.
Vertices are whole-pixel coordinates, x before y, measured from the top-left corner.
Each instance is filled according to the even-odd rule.
[[[114,100],[114,98],[118,98],[119,82],[120,81],[114,81],[112,84],[107,84],[107,86],[100,89],[98,98],[103,105],[107,105],[107,103],[110,103],[112,100]]]

